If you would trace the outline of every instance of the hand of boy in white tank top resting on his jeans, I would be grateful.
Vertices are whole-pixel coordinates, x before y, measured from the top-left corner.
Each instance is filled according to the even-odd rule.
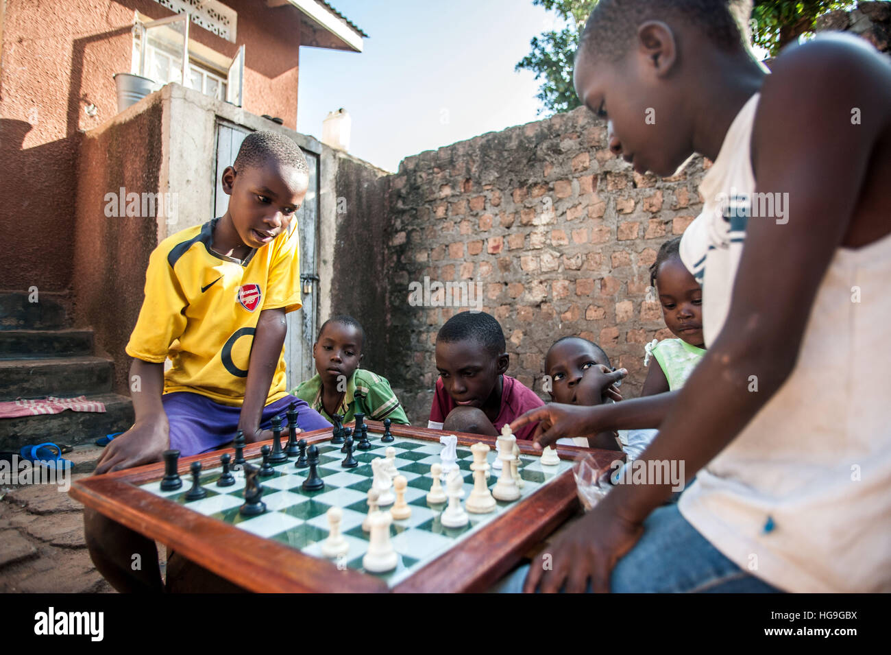
[[[594,593],[609,593],[612,569],[641,538],[643,527],[611,510],[607,498],[594,505],[548,549],[547,553],[552,555],[551,570],[535,564],[529,567],[524,593],[533,593],[538,587],[543,594],[553,594],[561,588],[568,594],[581,594],[589,579]]]

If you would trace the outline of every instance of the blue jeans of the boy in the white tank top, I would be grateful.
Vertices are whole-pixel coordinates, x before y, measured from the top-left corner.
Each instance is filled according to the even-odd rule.
[[[663,505],[643,523],[640,541],[619,560],[609,579],[615,593],[770,594],[779,589],[740,569],[693,528],[677,504]],[[519,594],[529,565],[505,577],[494,592]],[[587,591],[591,592],[588,584]]]

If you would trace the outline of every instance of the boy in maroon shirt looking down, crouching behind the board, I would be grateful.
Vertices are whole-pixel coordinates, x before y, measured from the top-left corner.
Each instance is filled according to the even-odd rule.
[[[437,380],[428,428],[496,436],[503,425],[544,405],[521,382],[505,375],[510,356],[495,316],[465,311],[437,334]],[[517,430],[531,439],[535,424]]]

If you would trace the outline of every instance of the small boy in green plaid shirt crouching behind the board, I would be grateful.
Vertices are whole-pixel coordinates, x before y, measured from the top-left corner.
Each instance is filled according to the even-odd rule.
[[[331,422],[334,414],[342,415],[347,423],[359,412],[373,421],[389,419],[408,425],[405,410],[387,379],[359,368],[364,341],[365,331],[352,316],[325,321],[313,344],[317,373],[291,393]]]

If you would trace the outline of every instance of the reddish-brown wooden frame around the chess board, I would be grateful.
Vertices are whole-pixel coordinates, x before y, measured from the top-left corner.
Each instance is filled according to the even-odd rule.
[[[369,430],[383,432],[380,422],[366,421]],[[349,423],[348,425],[353,425]],[[333,428],[304,432],[307,445],[331,439]],[[396,437],[439,442],[446,432],[406,425],[392,425]],[[495,448],[495,437],[449,432],[459,446],[479,441]],[[287,430],[282,430],[282,445]],[[260,456],[260,447],[270,441],[249,444],[248,459]],[[520,453],[539,455],[531,442],[517,441]],[[608,466],[614,451],[576,446],[558,446],[561,459],[591,453],[599,467]],[[217,468],[220,455],[233,449],[181,457],[178,470],[189,475],[189,465],[198,461],[204,470]],[[218,576],[259,593],[455,593],[483,592],[516,566],[524,554],[540,544],[579,507],[572,470],[537,489],[526,499],[491,520],[471,536],[454,544],[411,576],[390,589],[387,583],[356,569],[339,569],[333,561],[301,553],[274,539],[253,535],[222,520],[213,519],[184,505],[139,487],[164,476],[164,463],[148,464],[127,471],[76,480],[69,495],[87,507],[151,539],[166,544],[184,557]]]

